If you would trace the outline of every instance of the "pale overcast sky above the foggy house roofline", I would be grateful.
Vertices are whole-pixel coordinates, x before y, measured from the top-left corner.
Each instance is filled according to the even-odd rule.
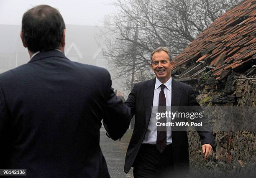
[[[36,5],[58,8],[66,24],[102,25],[112,0],[0,0],[0,24],[20,25],[23,13]]]

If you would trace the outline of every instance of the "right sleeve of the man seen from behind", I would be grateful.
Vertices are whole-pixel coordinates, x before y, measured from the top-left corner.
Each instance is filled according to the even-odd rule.
[[[108,73],[107,107],[103,125],[108,137],[118,140],[123,137],[130,125],[131,109],[123,103],[122,99],[116,96],[111,85],[112,82]]]

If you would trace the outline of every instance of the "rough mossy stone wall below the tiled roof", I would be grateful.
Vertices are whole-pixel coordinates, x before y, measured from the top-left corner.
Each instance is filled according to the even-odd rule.
[[[197,86],[196,89],[199,87]],[[237,74],[231,74],[225,81],[203,86],[201,91],[197,100],[202,105],[240,107],[255,107],[256,105],[256,77],[238,77]],[[214,115],[220,114],[218,110],[214,112]],[[208,120],[213,126],[215,151],[212,158],[204,161],[200,137],[197,132],[190,130],[188,132],[189,177],[255,177],[255,127],[253,130],[224,132],[218,131],[219,126],[214,118],[210,117]]]

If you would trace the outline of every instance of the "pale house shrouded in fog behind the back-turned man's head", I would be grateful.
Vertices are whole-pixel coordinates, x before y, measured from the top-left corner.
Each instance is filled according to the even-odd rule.
[[[95,35],[102,27],[67,25],[65,55],[72,61],[107,68]],[[20,25],[0,25],[0,73],[29,61],[20,40]],[[102,28],[103,29],[103,28]]]

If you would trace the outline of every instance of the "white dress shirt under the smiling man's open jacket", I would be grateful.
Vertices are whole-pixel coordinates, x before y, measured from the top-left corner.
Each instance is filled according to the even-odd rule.
[[[156,112],[158,112],[158,102],[159,102],[159,93],[161,92],[161,81],[156,78],[155,90],[154,90],[154,99],[153,99],[153,107],[152,113],[150,117],[150,121],[148,124],[148,128],[146,131],[146,135],[142,143],[148,144],[156,144],[156,134],[157,134],[157,126],[156,122]],[[166,110],[167,112],[171,111],[172,106],[172,76],[171,78],[164,83],[164,95],[166,99]],[[171,118],[166,118],[166,122],[171,122]],[[171,127],[166,127],[166,144],[169,145],[172,143],[172,131]]]

